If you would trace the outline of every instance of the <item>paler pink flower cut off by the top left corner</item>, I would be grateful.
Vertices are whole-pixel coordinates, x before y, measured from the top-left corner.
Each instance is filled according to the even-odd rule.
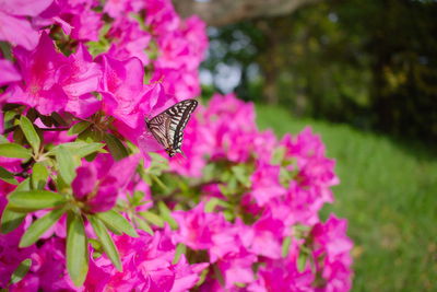
[[[0,40],[10,42],[27,50],[38,44],[39,34],[25,16],[36,16],[50,5],[52,0],[1,0],[0,1]]]

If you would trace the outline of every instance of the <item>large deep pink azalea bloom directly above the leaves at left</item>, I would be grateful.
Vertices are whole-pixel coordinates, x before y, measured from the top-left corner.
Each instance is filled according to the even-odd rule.
[[[76,54],[67,58],[56,51],[54,42],[43,34],[31,54],[20,47],[14,52],[23,86],[11,85],[5,94],[8,102],[36,107],[43,115],[67,107],[78,116],[87,117],[97,108],[97,101],[87,94],[97,90],[101,70],[84,47],[80,46]]]

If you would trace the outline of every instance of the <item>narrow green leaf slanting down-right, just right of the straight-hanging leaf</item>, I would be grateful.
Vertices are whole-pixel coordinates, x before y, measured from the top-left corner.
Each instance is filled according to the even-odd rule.
[[[107,229],[105,227],[105,224],[95,215],[87,215],[86,218],[93,226],[94,233],[97,235],[98,240],[101,240],[105,254],[108,256],[117,270],[122,271],[120,256],[118,255],[117,247],[114,244],[114,241],[110,237]]]

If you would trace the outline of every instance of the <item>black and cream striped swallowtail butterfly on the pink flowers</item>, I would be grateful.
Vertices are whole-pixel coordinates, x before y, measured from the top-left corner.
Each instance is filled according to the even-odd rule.
[[[198,104],[196,100],[186,100],[167,108],[151,120],[145,120],[153,137],[165,148],[170,157],[176,153],[182,153],[180,147],[184,129]]]

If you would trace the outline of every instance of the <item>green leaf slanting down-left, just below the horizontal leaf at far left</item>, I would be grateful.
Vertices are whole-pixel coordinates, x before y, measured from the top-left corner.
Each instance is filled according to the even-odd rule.
[[[20,247],[27,247],[36,243],[37,240],[50,227],[52,226],[58,220],[61,218],[63,213],[66,213],[67,209],[55,209],[47,213],[46,215],[39,218],[38,220],[34,221],[31,226],[24,232],[23,236],[20,241]]]

